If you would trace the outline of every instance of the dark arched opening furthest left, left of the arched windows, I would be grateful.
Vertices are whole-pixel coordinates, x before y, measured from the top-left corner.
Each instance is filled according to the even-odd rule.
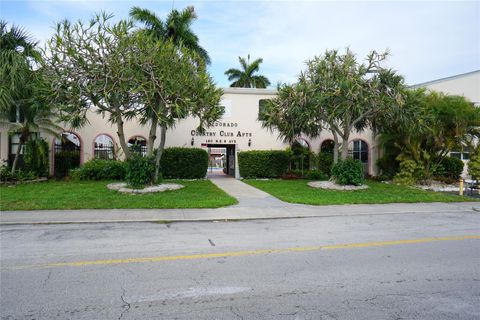
[[[55,177],[66,177],[71,169],[78,168],[81,164],[82,140],[76,133],[64,132],[55,138],[53,152]]]

